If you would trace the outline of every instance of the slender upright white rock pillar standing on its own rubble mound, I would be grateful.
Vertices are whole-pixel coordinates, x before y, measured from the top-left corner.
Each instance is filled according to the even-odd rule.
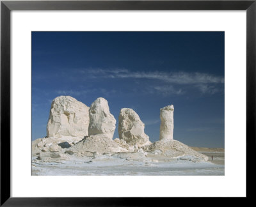
[[[173,140],[173,105],[168,105],[160,109],[160,140],[170,141]]]

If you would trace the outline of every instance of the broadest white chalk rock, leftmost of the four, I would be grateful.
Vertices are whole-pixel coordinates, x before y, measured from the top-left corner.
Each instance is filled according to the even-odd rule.
[[[47,137],[88,135],[89,107],[71,96],[58,96],[51,105]]]

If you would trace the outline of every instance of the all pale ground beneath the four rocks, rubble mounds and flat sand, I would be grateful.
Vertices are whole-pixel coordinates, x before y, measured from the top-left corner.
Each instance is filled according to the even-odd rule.
[[[182,142],[157,141],[131,148],[104,136],[32,142],[32,175],[224,175],[224,150],[195,148]],[[200,152],[200,153],[198,153]],[[213,156],[213,160],[211,160]]]

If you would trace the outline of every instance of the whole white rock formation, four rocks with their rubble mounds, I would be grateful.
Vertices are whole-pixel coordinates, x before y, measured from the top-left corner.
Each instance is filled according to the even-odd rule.
[[[123,108],[118,117],[119,138],[113,140],[116,119],[105,98],[97,98],[89,108],[71,96],[58,96],[52,101],[47,136],[32,142],[32,163],[62,163],[103,155],[145,162],[207,161],[207,156],[198,153],[201,148],[190,148],[173,139],[173,111],[173,105],[160,109],[159,141],[152,143],[140,116]]]

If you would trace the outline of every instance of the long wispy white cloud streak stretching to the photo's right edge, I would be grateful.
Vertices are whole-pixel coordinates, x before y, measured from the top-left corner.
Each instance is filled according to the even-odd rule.
[[[76,70],[76,72],[82,77],[86,75],[87,79],[132,79],[134,84],[143,84],[131,88],[134,93],[157,93],[163,96],[184,95],[189,89],[196,89],[202,94],[214,95],[221,92],[221,86],[224,83],[222,76],[199,72],[159,72],[157,70],[134,72],[125,68],[86,68]],[[147,82],[141,82],[140,79],[147,80]]]

